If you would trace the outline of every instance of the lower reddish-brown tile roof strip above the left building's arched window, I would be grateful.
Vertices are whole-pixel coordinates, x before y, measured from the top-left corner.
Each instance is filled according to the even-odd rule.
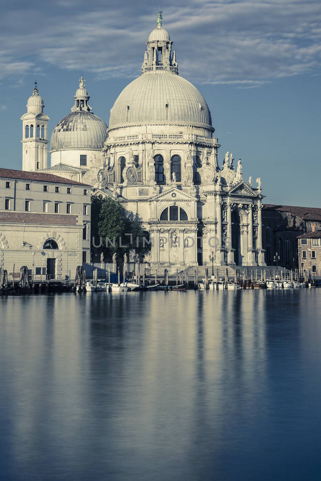
[[[57,224],[71,225],[77,224],[77,215],[62,214],[32,214],[31,212],[0,212],[1,222],[18,222],[27,224]]]

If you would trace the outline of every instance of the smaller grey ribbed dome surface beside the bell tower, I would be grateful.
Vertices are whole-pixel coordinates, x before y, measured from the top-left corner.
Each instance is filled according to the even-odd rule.
[[[53,129],[51,150],[102,149],[107,126],[90,112],[77,111],[64,117]]]

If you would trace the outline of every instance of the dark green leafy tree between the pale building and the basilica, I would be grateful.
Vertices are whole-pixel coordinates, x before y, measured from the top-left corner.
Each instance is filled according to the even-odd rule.
[[[131,212],[125,217],[121,203],[110,197],[92,196],[91,233],[91,237],[95,237],[95,245],[98,245],[99,238],[102,238],[102,246],[98,251],[104,253],[104,258],[111,258],[116,253],[117,259],[122,260],[124,253],[128,255],[129,249],[135,249],[136,253],[141,255],[151,248],[151,244],[147,242],[143,246],[143,237],[148,240],[148,234],[142,228],[141,221]],[[106,238],[109,239],[107,246]]]

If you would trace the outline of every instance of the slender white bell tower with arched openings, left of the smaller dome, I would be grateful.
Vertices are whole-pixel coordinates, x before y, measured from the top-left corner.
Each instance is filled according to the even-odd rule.
[[[22,120],[22,170],[37,171],[47,168],[48,115],[37,89],[37,81]]]

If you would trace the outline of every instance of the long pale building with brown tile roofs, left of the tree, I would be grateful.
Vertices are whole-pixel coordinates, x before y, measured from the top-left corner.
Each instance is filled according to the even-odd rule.
[[[0,168],[0,267],[65,278],[90,258],[89,185]]]

